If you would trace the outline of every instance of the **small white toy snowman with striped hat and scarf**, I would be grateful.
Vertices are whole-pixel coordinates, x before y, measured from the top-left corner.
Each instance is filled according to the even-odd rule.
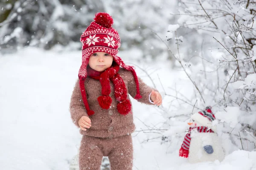
[[[189,132],[180,147],[179,156],[188,158],[190,163],[203,161],[222,161],[224,151],[216,133],[216,126],[212,125],[215,116],[207,106],[191,116]]]

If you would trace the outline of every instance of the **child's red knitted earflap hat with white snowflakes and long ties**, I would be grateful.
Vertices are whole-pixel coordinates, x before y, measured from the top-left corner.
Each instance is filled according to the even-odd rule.
[[[93,115],[93,111],[90,110],[86,91],[84,87],[84,80],[87,78],[87,65],[89,62],[89,57],[96,52],[105,52],[113,56],[113,60],[117,65],[121,66],[125,70],[131,71],[134,76],[136,83],[137,95],[135,99],[140,99],[140,89],[137,74],[133,66],[125,65],[122,59],[116,54],[118,53],[118,48],[121,46],[120,37],[118,32],[112,28],[113,19],[107,13],[96,13],[95,21],[93,21],[90,26],[81,35],[80,41],[82,42],[82,65],[79,69],[79,80],[80,80],[80,90],[82,94],[82,99],[84,102],[87,114]]]

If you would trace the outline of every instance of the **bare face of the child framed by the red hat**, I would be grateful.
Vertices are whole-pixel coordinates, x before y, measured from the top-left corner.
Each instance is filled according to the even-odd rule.
[[[105,52],[93,53],[89,58],[89,66],[96,71],[105,71],[110,68],[113,62],[113,56]]]

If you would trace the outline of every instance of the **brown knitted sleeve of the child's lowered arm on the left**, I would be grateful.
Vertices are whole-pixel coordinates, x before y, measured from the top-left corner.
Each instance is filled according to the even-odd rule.
[[[70,114],[73,123],[79,127],[78,121],[82,116],[88,116],[84,107],[84,102],[82,99],[79,80],[76,82],[73,94],[70,101]]]

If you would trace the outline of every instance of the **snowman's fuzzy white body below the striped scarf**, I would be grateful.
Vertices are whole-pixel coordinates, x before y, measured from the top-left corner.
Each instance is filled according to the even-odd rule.
[[[191,131],[191,141],[189,147],[189,162],[197,163],[202,161],[222,161],[224,152],[217,133],[198,132],[197,128]],[[213,153],[207,153],[204,146],[212,146]]]

